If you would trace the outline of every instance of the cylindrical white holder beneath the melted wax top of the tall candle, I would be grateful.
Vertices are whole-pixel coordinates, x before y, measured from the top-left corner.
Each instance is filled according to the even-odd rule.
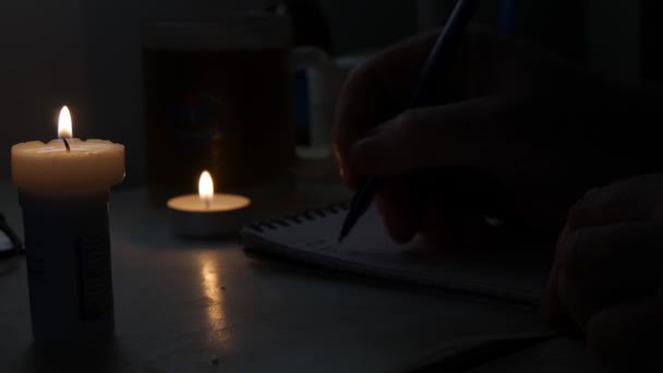
[[[87,345],[114,334],[108,194],[19,191],[37,344]]]

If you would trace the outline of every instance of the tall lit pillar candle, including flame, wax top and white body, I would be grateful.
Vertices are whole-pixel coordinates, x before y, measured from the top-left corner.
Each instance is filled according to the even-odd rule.
[[[108,195],[124,178],[124,146],[72,139],[12,146],[27,256],[33,336],[44,344],[108,340],[114,332]]]

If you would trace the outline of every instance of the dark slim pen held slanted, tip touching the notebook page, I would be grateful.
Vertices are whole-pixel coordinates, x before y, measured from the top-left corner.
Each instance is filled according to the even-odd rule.
[[[444,71],[449,61],[449,55],[454,51],[456,44],[462,36],[465,28],[470,22],[477,8],[478,0],[458,0],[451,16],[443,27],[437,41],[433,46],[426,59],[419,80],[410,97],[408,109],[426,105],[430,99],[432,76],[437,71]],[[338,242],[341,242],[354,227],[359,218],[369,209],[373,201],[373,195],[381,184],[381,179],[376,177],[365,177],[357,193],[350,202],[350,209],[343,220]]]

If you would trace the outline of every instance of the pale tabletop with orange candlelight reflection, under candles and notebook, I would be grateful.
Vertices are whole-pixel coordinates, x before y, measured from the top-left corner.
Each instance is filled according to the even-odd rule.
[[[262,214],[338,202],[299,186]],[[0,208],[21,228],[16,191]],[[69,363],[113,372],[400,372],[459,338],[542,330],[538,310],[345,276],[245,253],[234,240],[176,238],[143,189],[110,202],[117,340]],[[0,261],[0,371],[47,371],[32,344],[25,258]],[[64,359],[64,360],[67,360]]]

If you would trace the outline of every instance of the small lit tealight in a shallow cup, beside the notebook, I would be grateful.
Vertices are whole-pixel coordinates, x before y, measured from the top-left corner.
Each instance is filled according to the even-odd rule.
[[[170,198],[172,229],[184,237],[224,237],[237,233],[246,219],[251,200],[237,194],[215,194],[207,171],[198,180],[198,194]]]

